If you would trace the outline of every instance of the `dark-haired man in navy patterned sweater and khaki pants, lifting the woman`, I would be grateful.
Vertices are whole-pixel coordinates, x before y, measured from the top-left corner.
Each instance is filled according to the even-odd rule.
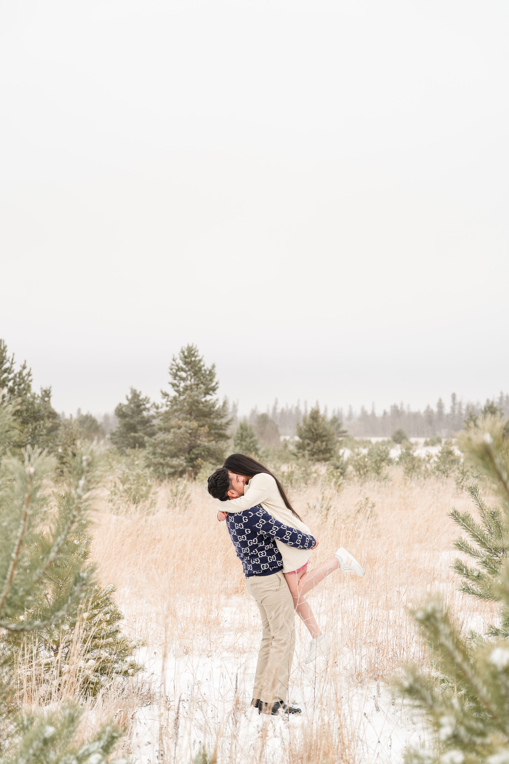
[[[218,469],[208,478],[208,493],[220,499],[230,490],[230,474]],[[282,574],[282,556],[276,539],[298,549],[314,549],[314,536],[279,523],[263,507],[251,507],[227,516],[237,557],[246,576],[247,591],[262,617],[263,636],[253,688],[253,706],[260,714],[300,714],[288,706],[288,675],[295,646],[295,610]]]

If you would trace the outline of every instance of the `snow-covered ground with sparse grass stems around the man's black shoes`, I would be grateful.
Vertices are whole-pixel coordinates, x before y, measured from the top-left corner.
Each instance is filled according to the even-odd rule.
[[[384,683],[356,685],[346,679],[348,662],[349,656],[331,652],[311,668],[297,657],[291,701],[302,714],[288,718],[259,715],[250,706],[256,654],[242,660],[184,656],[166,662],[164,673],[158,656],[149,668],[153,681],[166,690],[166,702],[163,698],[137,711],[134,760],[191,762],[201,746],[211,753],[219,738],[220,761],[276,764],[286,760],[292,740],[302,740],[310,728],[324,724],[332,707],[337,713],[330,721],[356,762],[401,762],[408,744],[421,746],[427,739],[422,720]],[[331,706],[334,695],[339,704]]]

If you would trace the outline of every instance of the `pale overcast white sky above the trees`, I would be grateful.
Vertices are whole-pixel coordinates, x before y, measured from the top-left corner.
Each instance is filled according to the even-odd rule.
[[[509,6],[0,3],[0,337],[67,413],[509,388]]]

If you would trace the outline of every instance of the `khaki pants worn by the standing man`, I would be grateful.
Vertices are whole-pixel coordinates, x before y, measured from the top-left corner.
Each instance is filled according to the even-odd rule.
[[[292,594],[281,572],[250,576],[246,588],[256,600],[263,624],[253,698],[268,704],[286,703],[295,646]]]

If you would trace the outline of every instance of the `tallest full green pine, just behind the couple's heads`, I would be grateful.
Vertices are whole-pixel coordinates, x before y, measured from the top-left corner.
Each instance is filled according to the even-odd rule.
[[[215,397],[215,365],[206,367],[195,345],[173,356],[169,376],[172,393],[161,390],[158,434],[147,442],[147,464],[159,480],[195,478],[202,466],[224,459],[230,425],[227,402]]]

